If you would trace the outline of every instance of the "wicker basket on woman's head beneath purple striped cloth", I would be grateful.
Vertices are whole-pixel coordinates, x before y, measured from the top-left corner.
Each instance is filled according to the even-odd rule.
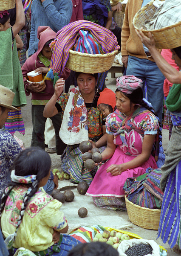
[[[66,67],[82,73],[103,73],[112,67],[118,50],[106,54],[88,54],[69,50]]]

